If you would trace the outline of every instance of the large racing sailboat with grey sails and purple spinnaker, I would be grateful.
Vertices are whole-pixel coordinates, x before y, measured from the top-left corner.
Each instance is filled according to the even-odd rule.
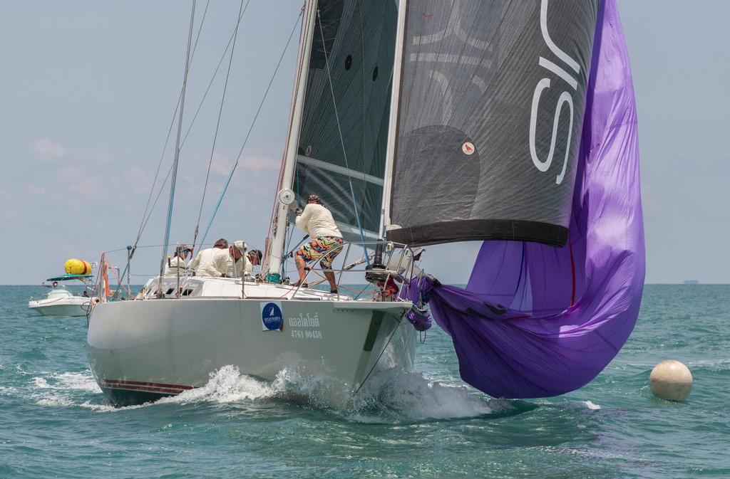
[[[308,0],[264,276],[160,274],[134,300],[102,294],[94,378],[117,405],[225,365],[357,392],[412,368],[428,303],[478,389],[582,386],[641,297],[632,102],[614,0]],[[394,300],[286,283],[293,209],[312,193],[345,237],[340,271],[401,281]],[[469,240],[485,242],[465,290],[419,270],[415,249]]]

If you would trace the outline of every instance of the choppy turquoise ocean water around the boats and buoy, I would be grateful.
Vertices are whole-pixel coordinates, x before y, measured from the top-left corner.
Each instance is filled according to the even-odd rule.
[[[637,327],[588,386],[494,400],[464,386],[438,327],[414,373],[346,409],[322,383],[223,367],[207,386],[115,409],[86,362],[86,319],[35,316],[0,287],[0,478],[730,478],[730,286],[649,285]],[[688,402],[651,368],[679,359]]]

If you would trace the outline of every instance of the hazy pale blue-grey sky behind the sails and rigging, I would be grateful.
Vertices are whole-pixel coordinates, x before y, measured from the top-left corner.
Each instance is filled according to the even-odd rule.
[[[206,1],[198,1],[196,28]],[[191,64],[172,241],[190,241],[207,165],[204,229],[239,166],[208,241],[263,249],[290,112],[301,1],[250,0],[242,19],[215,151],[227,58],[240,2],[210,2]],[[730,1],[618,0],[639,116],[648,283],[730,282]],[[67,258],[125,262],[142,222],[182,85],[187,1],[7,0],[0,6],[0,284],[39,284]],[[288,49],[292,29],[296,32]],[[283,53],[284,52],[284,53]],[[253,125],[274,67],[280,71]],[[173,131],[174,133],[174,131]],[[162,162],[172,162],[170,140]],[[159,184],[159,182],[158,182]],[[157,190],[155,190],[155,195]],[[168,191],[139,241],[132,283],[155,273]],[[154,200],[154,195],[153,198]],[[424,267],[469,278],[477,243],[435,246]],[[138,276],[139,275],[139,276]]]

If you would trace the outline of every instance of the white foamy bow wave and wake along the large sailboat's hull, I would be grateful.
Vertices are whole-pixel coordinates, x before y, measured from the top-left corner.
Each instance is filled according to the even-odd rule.
[[[534,402],[498,400],[474,389],[426,378],[422,373],[390,370],[369,379],[357,392],[323,376],[307,376],[296,370],[281,370],[274,381],[263,381],[242,374],[238,367],[227,365],[210,373],[210,380],[196,389],[163,397],[142,405],[115,408],[107,400],[99,401],[101,389],[90,370],[80,373],[55,373],[31,378],[31,400],[42,406],[81,407],[99,412],[150,408],[160,405],[235,404],[247,402],[310,408],[333,414],[346,421],[399,424],[422,421],[504,417],[539,408]],[[12,388],[2,391],[14,395]],[[599,410],[591,401],[561,402],[561,408],[573,406]],[[542,407],[556,407],[545,402]]]

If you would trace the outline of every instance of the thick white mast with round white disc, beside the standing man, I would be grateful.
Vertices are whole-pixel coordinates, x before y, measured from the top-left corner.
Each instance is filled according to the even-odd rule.
[[[301,114],[304,107],[304,93],[307,90],[307,72],[309,71],[310,55],[312,52],[312,28],[315,26],[317,15],[317,0],[306,0],[304,17],[299,38],[299,62],[297,68],[296,87],[291,109],[289,134],[284,150],[283,174],[279,183],[279,190],[274,199],[274,217],[272,219],[269,238],[271,244],[266,248],[264,268],[266,276],[272,275],[272,281],[279,281],[282,262],[284,261],[284,243],[286,241],[286,221],[289,205],[280,200],[281,193],[291,190],[296,165],[296,145],[299,143],[301,128]]]

